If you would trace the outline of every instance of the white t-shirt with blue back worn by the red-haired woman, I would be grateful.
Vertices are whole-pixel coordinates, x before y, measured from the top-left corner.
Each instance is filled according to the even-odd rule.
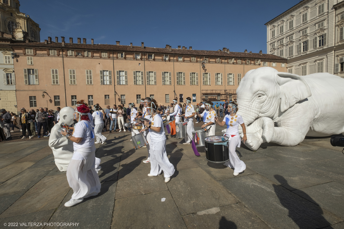
[[[94,145],[94,131],[88,121],[81,120],[74,125],[73,136],[83,138],[80,143],[73,142],[74,151],[82,148],[90,148]]]

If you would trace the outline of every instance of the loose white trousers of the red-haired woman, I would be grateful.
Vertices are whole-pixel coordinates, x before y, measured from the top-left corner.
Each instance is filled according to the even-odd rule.
[[[100,180],[95,170],[96,147],[82,148],[74,151],[67,168],[67,181],[73,189],[72,199],[83,199],[90,193],[100,192]],[[82,160],[76,160],[76,159]]]

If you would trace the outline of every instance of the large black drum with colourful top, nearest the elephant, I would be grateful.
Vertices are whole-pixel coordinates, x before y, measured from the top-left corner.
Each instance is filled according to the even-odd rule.
[[[229,160],[228,138],[209,136],[204,139],[205,159],[210,162],[223,163]]]

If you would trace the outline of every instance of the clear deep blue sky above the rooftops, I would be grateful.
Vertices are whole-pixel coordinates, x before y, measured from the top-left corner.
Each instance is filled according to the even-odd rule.
[[[80,37],[97,44],[266,53],[264,24],[299,2],[21,0],[20,11],[40,25],[41,41],[64,36],[75,43]]]

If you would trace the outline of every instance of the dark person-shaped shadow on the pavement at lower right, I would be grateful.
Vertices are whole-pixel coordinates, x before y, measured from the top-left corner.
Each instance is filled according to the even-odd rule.
[[[283,185],[283,187],[287,188],[288,190],[295,190],[295,188],[291,187],[288,184],[288,181],[281,175],[274,175],[275,179]],[[280,203],[283,207],[287,208],[289,213],[288,216],[297,224],[301,229],[305,228],[324,228],[331,229],[331,224],[323,217],[323,210],[318,204],[306,193],[298,190],[298,192],[302,192],[305,199],[311,200],[311,202],[315,203],[313,208],[310,208],[309,205],[304,205],[304,203],[300,203],[296,199],[290,198],[286,192],[281,191],[280,185],[272,185],[275,189],[275,193],[279,198]],[[312,206],[313,206],[312,203]],[[310,203],[311,204],[311,203]],[[295,207],[297,206],[297,207]],[[330,226],[330,227],[328,227]],[[333,229],[333,228],[332,228]]]

